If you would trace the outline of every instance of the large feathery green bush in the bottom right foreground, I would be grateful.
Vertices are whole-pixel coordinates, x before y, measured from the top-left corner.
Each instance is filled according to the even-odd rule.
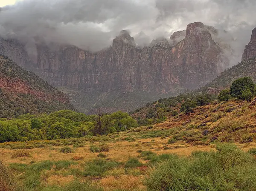
[[[145,180],[148,191],[256,190],[256,161],[236,145],[190,157],[172,156],[159,163]]]

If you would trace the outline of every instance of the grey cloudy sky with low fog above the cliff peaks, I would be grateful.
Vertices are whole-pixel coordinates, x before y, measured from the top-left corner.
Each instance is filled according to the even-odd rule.
[[[228,31],[239,61],[256,26],[255,9],[255,0],[23,0],[0,10],[0,36],[20,40],[30,54],[41,43],[99,51],[122,29],[146,46],[199,21]]]

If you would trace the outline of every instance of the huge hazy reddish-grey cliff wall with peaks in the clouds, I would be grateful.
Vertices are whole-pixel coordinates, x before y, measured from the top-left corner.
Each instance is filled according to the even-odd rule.
[[[80,111],[131,111],[159,97],[200,88],[224,71],[232,49],[218,33],[223,31],[191,23],[172,35],[171,43],[157,39],[140,48],[121,31],[110,47],[96,53],[40,44],[28,54],[24,44],[2,38],[0,53],[69,94]]]

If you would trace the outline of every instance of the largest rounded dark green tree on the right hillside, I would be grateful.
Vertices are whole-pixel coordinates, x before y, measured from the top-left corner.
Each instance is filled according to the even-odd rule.
[[[244,99],[243,91],[249,89],[250,92],[254,92],[255,84],[251,77],[242,77],[235,80],[230,87],[230,94],[232,97]]]

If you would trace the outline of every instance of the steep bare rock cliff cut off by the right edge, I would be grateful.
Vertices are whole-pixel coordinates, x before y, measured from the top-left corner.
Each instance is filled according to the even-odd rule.
[[[242,61],[248,60],[256,56],[256,28],[253,29],[250,43],[245,46],[244,54],[242,56]]]

